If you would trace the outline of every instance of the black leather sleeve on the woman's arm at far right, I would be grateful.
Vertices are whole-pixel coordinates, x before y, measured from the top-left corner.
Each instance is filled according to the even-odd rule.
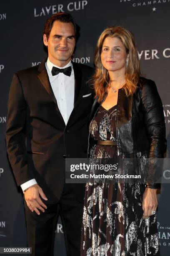
[[[158,188],[157,180],[162,175],[162,164],[166,152],[166,132],[163,104],[155,82],[147,80],[142,89],[144,122],[149,141],[147,187]],[[161,160],[162,159],[162,160]]]

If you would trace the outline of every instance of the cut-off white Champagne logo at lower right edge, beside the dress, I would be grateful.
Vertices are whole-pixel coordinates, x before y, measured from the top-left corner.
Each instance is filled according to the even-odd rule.
[[[160,222],[158,222],[158,221],[157,221],[157,227],[158,227],[158,236],[160,239],[160,245],[161,246],[170,246],[170,242],[167,241],[170,239],[170,227],[161,226]],[[165,241],[162,241],[162,239],[165,239]]]

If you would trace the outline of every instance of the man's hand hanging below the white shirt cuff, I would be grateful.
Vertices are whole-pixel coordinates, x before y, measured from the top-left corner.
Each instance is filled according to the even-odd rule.
[[[44,200],[48,200],[44,192],[42,191],[42,188],[38,184],[34,184],[28,187],[28,189],[24,190],[24,197],[28,208],[32,212],[35,211],[38,215],[40,215],[39,210],[45,212],[44,209],[47,209],[47,206],[42,202],[40,196]]]

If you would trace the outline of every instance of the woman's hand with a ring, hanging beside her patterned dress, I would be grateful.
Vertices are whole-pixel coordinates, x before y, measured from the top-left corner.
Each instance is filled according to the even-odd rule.
[[[157,195],[156,195],[156,189],[145,189],[145,192],[143,194],[143,219],[149,218],[150,215],[152,215],[152,211],[156,211],[158,205]]]

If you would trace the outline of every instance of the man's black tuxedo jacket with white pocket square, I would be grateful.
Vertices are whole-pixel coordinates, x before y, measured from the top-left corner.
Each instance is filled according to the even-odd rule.
[[[87,157],[87,123],[93,102],[93,92],[87,81],[93,69],[77,63],[72,65],[75,98],[66,126],[57,107],[45,61],[14,74],[9,93],[6,141],[16,182],[20,186],[35,178],[52,201],[59,200],[62,193],[65,158]],[[77,199],[82,201],[84,186],[75,184],[73,187]]]

